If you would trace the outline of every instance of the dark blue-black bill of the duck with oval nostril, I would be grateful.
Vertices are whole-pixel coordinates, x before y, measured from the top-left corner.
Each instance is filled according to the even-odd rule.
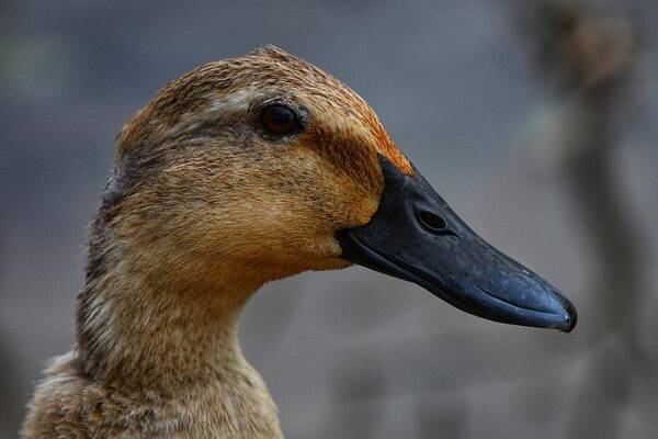
[[[405,279],[490,320],[570,331],[577,314],[557,289],[473,232],[415,169],[379,155],[384,191],[371,221],[342,229],[342,258]]]

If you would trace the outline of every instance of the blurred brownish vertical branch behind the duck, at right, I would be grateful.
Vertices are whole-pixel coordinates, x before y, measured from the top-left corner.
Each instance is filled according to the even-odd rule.
[[[595,348],[567,426],[567,437],[579,439],[621,437],[634,364],[642,361],[638,243],[620,195],[613,132],[636,56],[633,22],[620,12],[545,1],[533,27],[542,47],[541,71],[557,81],[568,100],[559,115],[567,145],[557,161],[590,240],[595,270],[590,322],[581,325],[588,348]]]

